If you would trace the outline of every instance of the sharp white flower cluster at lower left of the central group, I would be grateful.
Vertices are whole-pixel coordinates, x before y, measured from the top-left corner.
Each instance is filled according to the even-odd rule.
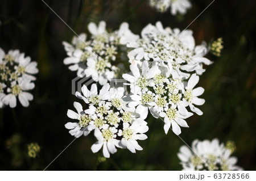
[[[98,152],[103,147],[103,155],[110,157],[117,148],[127,148],[132,153],[135,150],[142,150],[137,140],[145,140],[148,131],[147,122],[139,117],[133,109],[126,106],[126,96],[124,90],[110,88],[105,84],[100,92],[97,91],[96,84],[88,90],[82,86],[82,94],[76,92],[77,98],[84,100],[89,108],[84,110],[82,105],[74,102],[77,112],[68,110],[68,117],[78,120],[77,123],[67,123],[65,127],[71,129],[72,136],[87,136],[94,131],[97,142],[92,145],[93,153]]]

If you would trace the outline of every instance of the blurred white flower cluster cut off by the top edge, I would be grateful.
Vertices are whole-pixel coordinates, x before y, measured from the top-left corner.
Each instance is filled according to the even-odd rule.
[[[166,12],[170,7],[172,15],[176,15],[177,12],[185,14],[187,9],[191,8],[189,0],[150,0],[150,5],[159,12]]]

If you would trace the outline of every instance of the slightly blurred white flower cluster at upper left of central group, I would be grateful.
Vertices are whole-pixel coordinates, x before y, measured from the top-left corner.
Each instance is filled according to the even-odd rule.
[[[122,23],[119,30],[106,31],[106,23],[89,23],[88,30],[92,34],[86,40],[86,34],[73,37],[72,44],[63,42],[68,57],[64,64],[69,69],[77,71],[77,75],[92,77],[100,85],[104,85],[110,79],[121,78],[125,71],[123,62],[127,60],[127,41],[136,41],[137,35],[129,30],[129,24]]]

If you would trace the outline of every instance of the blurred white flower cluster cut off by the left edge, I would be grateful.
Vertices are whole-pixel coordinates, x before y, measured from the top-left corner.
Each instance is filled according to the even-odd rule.
[[[0,108],[9,105],[16,107],[16,96],[22,106],[27,107],[33,95],[28,90],[34,89],[32,74],[38,73],[37,63],[31,62],[19,50],[9,50],[7,54],[0,48]]]

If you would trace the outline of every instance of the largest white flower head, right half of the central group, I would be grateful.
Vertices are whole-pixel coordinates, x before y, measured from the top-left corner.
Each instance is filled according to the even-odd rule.
[[[207,45],[195,46],[191,31],[164,29],[160,22],[149,24],[141,34],[141,39],[127,44],[133,48],[128,54],[131,72],[123,74],[133,94],[129,107],[143,119],[150,110],[155,118],[163,118],[166,134],[171,127],[180,134],[180,127],[188,127],[184,119],[193,115],[187,107],[203,114],[195,106],[204,104],[204,99],[198,98],[204,89],[195,86],[205,71],[203,64],[212,63],[203,57]]]

